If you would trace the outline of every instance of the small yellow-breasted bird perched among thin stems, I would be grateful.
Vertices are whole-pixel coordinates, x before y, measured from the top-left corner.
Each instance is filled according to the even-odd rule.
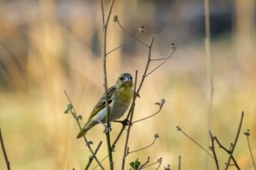
[[[133,97],[133,82],[131,74],[123,73],[119,76],[113,87],[108,88],[108,108],[109,108],[109,122],[120,122],[120,117],[125,115],[129,105],[131,104],[131,99]],[[90,113],[88,121],[85,123],[84,127],[80,130],[77,139],[83,137],[90,128],[96,126],[96,124],[102,124],[105,127],[104,133],[108,133],[111,130],[110,127],[106,129],[104,123],[106,123],[106,94],[102,94],[101,99],[94,107]],[[123,123],[129,122],[127,119]]]

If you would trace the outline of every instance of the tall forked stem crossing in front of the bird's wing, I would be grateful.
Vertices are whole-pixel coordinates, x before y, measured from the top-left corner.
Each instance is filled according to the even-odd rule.
[[[107,22],[105,25],[105,20],[104,20],[104,7],[103,7],[103,2],[102,3],[102,32],[103,32],[103,76],[104,76],[104,88],[105,88],[105,100],[106,100],[106,124],[108,128],[109,124],[109,107],[108,107],[108,81],[107,81],[107,66],[106,66],[106,48],[107,48],[107,28],[108,28],[108,20],[113,8],[113,0],[110,3],[110,8],[109,8],[109,13],[108,13],[108,18]],[[112,148],[111,148],[111,143],[110,143],[110,134],[106,133],[106,138],[107,138],[107,144],[108,144],[108,158],[109,158],[109,167],[110,170],[113,170],[113,158],[112,158]]]

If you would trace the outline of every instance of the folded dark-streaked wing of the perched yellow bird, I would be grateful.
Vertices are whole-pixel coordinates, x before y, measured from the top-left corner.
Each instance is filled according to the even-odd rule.
[[[112,102],[112,95],[115,91],[115,87],[111,87],[111,88],[108,88],[108,105],[111,104]],[[106,107],[106,98],[105,98],[105,93],[102,95],[101,99],[98,101],[97,105],[94,107],[93,111],[91,111],[90,113],[90,117],[88,119],[88,122],[89,123],[91,121],[91,119],[96,116],[96,114],[99,112],[99,111],[102,111],[103,108]],[[86,123],[86,124],[87,124]]]

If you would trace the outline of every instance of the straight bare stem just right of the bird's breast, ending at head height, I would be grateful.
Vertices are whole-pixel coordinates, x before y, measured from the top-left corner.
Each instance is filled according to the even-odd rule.
[[[135,107],[135,98],[136,98],[136,85],[137,85],[137,71],[135,74],[135,83],[134,83],[134,89],[133,89],[133,99],[132,99],[132,108],[131,108],[131,117],[130,117],[130,122],[132,122],[132,116],[133,116],[133,111],[134,111],[134,107]],[[129,135],[130,135],[130,130],[131,130],[131,124],[129,124],[128,130],[127,130],[127,135],[126,135],[126,140],[125,140],[125,150],[124,150],[124,157],[123,157],[123,163],[122,163],[122,170],[125,169],[125,156],[126,156],[126,149],[127,149],[127,145],[128,145],[128,139],[129,139]]]

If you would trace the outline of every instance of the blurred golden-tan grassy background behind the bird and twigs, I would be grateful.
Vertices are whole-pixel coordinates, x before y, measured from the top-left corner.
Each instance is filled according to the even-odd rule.
[[[104,0],[106,14],[109,0]],[[256,157],[256,46],[255,0],[210,1],[211,57],[214,82],[211,131],[225,147],[236,137],[241,111],[245,112],[241,135],[234,156],[241,169],[253,169],[243,132],[249,128],[253,156]],[[126,158],[126,168],[135,161],[150,162],[160,157],[164,169],[216,169],[204,150],[189,140],[179,126],[203,147],[207,141],[207,116],[210,87],[204,45],[205,14],[203,1],[122,0],[115,1],[108,26],[107,51],[127,42],[131,36],[119,22],[139,39],[150,42],[151,36],[166,34],[154,42],[153,59],[170,55],[171,44],[177,51],[165,65],[148,76],[137,99],[134,120],[159,110],[155,102],[166,99],[162,111],[131,128],[130,150],[153,146]],[[148,48],[133,41],[108,55],[108,87],[123,72],[138,70],[141,81],[148,59]],[[161,61],[151,62],[149,71]],[[77,122],[63,112],[69,104],[64,90],[79,115],[81,124],[104,92],[102,70],[102,13],[100,1],[92,0],[1,0],[0,1],[0,126],[12,169],[84,169],[91,155],[84,139],[76,139]],[[121,125],[112,123],[111,139]],[[92,149],[102,140],[97,157],[107,156],[103,127],[87,133]],[[114,168],[121,168],[125,134],[113,152]],[[215,145],[221,169],[228,155]],[[211,152],[211,151],[210,151]],[[108,169],[108,160],[102,165]],[[96,161],[92,162],[92,167]],[[157,165],[148,167],[155,169]],[[5,169],[1,151],[0,169]],[[97,167],[97,169],[100,169]],[[236,169],[236,167],[230,167]]]

